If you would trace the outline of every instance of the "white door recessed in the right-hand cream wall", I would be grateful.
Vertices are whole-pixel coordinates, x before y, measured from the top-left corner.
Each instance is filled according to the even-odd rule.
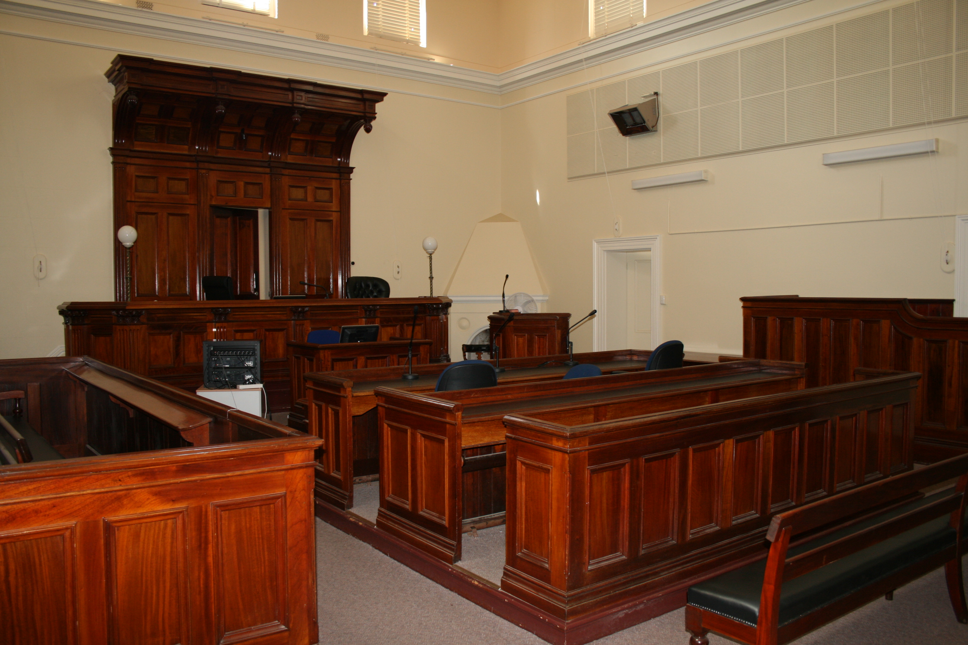
[[[651,251],[605,253],[607,349],[651,349]]]

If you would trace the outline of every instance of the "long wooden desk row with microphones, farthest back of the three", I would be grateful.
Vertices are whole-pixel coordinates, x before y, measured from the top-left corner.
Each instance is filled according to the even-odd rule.
[[[575,354],[576,361],[599,366],[604,374],[642,371],[650,350],[621,349]],[[684,366],[715,363],[715,354],[686,352]],[[568,370],[567,354],[501,360],[506,371],[499,384],[560,381]],[[377,396],[379,387],[414,393],[434,392],[438,376],[450,364],[415,365],[419,378],[405,381],[406,366],[370,367],[328,373],[307,372],[306,400],[296,401],[287,424],[338,447],[322,455],[317,470],[317,494],[321,501],[339,509],[353,506],[353,484],[375,479],[379,473]],[[482,449],[479,454],[489,450]]]

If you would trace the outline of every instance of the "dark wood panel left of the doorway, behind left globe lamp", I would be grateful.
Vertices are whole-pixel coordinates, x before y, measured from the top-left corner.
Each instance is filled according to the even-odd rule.
[[[196,207],[130,204],[133,300],[197,300]]]

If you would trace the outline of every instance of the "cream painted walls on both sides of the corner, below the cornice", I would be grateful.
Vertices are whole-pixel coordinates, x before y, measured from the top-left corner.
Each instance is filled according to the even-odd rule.
[[[575,87],[851,15],[810,22],[841,9],[838,0],[811,0],[500,97],[5,15],[6,30],[36,38],[0,36],[0,357],[62,344],[60,302],[111,297],[112,88],[103,73],[118,51],[388,91],[374,132],[361,132],[353,149],[351,251],[356,275],[389,276],[400,260],[395,296],[427,292],[423,237],[439,240],[440,288],[474,224],[503,212],[528,236],[551,296],[544,310],[590,309],[590,242],[612,237],[616,217],[624,235],[660,235],[662,328],[692,350],[739,351],[743,295],[951,298],[953,275],[941,272],[939,255],[953,241],[953,216],[968,212],[964,120],[565,179],[564,97]],[[505,107],[488,106],[496,103]],[[927,137],[941,140],[939,155],[820,163],[824,152]],[[701,168],[709,184],[630,190],[632,179]],[[36,252],[50,262],[43,281],[31,273]],[[574,339],[590,350],[591,327]]]

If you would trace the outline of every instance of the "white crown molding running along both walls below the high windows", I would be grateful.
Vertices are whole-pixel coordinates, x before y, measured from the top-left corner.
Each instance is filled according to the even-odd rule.
[[[398,56],[346,44],[311,41],[183,15],[143,11],[95,0],[0,0],[0,14],[201,44],[329,67],[379,73],[451,87],[505,94],[661,44],[768,14],[809,0],[713,0],[701,7],[595,39],[504,73]]]

